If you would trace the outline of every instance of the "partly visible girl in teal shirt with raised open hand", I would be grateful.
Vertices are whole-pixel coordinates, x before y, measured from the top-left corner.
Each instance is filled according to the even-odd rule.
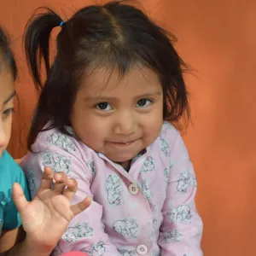
[[[28,202],[30,196],[25,174],[6,151],[11,133],[16,76],[14,56],[0,29],[0,255],[49,256],[70,220],[88,207],[90,199],[71,207],[76,181],[67,179],[64,173],[53,176],[52,170],[45,168],[42,180],[38,180],[38,193],[33,201]],[[55,185],[51,189],[53,177]],[[25,240],[23,229],[26,231]]]

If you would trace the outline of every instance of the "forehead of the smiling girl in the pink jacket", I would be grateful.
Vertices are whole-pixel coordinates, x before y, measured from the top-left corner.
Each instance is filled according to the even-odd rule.
[[[160,90],[156,73],[147,67],[137,65],[121,76],[118,69],[98,69],[85,74],[80,90],[87,96],[129,96]]]

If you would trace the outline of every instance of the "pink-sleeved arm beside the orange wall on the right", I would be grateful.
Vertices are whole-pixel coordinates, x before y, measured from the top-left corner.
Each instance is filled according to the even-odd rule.
[[[202,222],[195,207],[195,172],[180,135],[170,153],[167,197],[162,209],[161,256],[201,256]]]

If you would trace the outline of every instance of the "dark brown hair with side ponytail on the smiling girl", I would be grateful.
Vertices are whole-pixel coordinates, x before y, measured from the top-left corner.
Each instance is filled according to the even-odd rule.
[[[134,63],[149,67],[158,74],[163,88],[164,119],[176,122],[183,114],[189,117],[183,80],[187,67],[172,45],[176,38],[143,11],[125,1],[113,1],[80,9],[63,23],[52,9],[44,10],[28,22],[25,34],[26,60],[41,91],[27,142],[30,150],[41,131],[55,127],[71,135],[65,126],[70,125],[73,102],[88,67],[118,67],[120,75]],[[55,60],[50,65],[50,33],[60,24]],[[45,83],[40,75],[42,61]]]

